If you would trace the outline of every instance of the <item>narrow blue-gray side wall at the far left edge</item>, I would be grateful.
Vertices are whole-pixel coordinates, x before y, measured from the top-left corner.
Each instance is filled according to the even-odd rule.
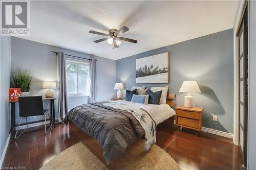
[[[0,155],[2,158],[10,127],[8,101],[11,73],[11,38],[9,36],[1,37],[0,65]]]

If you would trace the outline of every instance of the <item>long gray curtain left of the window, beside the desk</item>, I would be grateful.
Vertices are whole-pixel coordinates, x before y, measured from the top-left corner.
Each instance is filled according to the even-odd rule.
[[[58,64],[58,119],[63,122],[68,113],[68,95],[66,85],[66,58],[65,54],[59,52],[57,56]]]

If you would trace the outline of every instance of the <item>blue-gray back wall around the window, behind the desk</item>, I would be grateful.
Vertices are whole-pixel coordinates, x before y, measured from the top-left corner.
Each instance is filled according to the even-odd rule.
[[[12,46],[12,62],[11,68],[15,70],[30,69],[33,73],[33,84],[31,85],[31,95],[45,95],[47,89],[42,89],[43,81],[56,81],[57,80],[57,59],[54,53],[50,51],[63,51],[66,54],[84,57],[84,58],[96,58],[97,62],[97,76],[98,76],[98,89],[99,93],[97,101],[110,100],[115,94],[113,87],[115,85],[115,61],[102,57],[92,56],[85,53],[80,53],[64,48],[59,48],[52,45],[38,43],[21,38],[11,37]],[[55,96],[57,91],[54,90]],[[86,104],[88,97],[72,97],[68,99],[69,109]],[[44,107],[50,108],[50,102],[45,101]],[[16,124],[18,124],[18,107],[16,110]],[[57,115],[57,102],[55,102],[55,113]],[[41,120],[42,117],[30,117],[29,122],[35,120]]]

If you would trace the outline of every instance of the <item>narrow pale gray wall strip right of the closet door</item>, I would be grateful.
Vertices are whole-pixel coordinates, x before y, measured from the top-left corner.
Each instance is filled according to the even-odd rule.
[[[249,1],[248,169],[256,169],[256,1]]]

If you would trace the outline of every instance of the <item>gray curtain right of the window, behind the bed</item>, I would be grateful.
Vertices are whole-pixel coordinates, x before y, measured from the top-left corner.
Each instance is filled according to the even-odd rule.
[[[96,95],[98,93],[98,84],[97,84],[96,60],[95,59],[92,59],[92,61],[91,61],[90,79],[91,79],[91,88],[90,88],[91,102],[96,102]]]

